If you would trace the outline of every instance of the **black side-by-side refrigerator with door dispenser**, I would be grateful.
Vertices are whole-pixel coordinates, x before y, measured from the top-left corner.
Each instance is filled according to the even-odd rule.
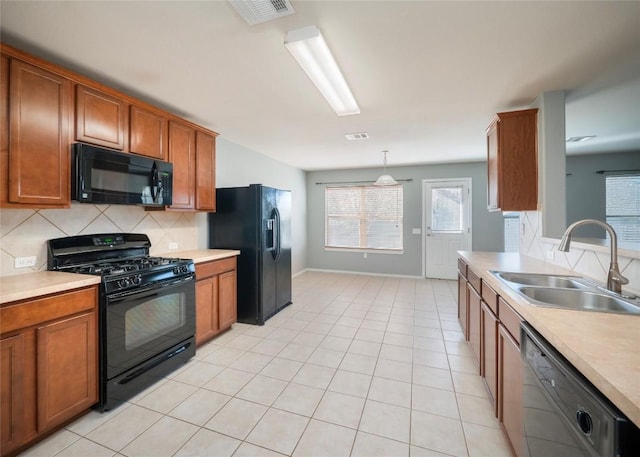
[[[209,247],[238,249],[238,322],[262,325],[291,303],[291,192],[216,189]]]

